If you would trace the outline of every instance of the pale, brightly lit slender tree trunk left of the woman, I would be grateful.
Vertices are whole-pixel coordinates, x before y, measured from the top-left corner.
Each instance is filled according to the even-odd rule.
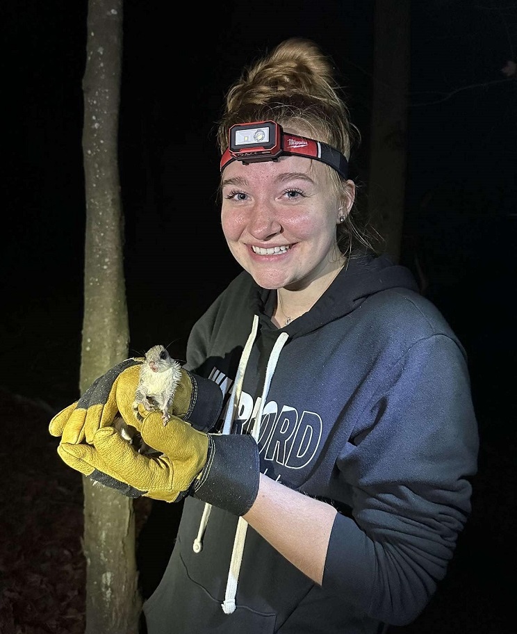
[[[122,0],[89,0],[83,78],[86,195],[81,393],[128,356],[123,216],[117,161]],[[136,634],[138,596],[133,501],[85,478],[85,634]]]

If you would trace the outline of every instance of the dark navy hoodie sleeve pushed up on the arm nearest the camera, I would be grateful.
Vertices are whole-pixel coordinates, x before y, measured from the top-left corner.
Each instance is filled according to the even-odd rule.
[[[323,587],[393,625],[420,614],[470,514],[477,423],[461,348],[443,334],[387,371],[336,461],[351,517],[334,522]]]

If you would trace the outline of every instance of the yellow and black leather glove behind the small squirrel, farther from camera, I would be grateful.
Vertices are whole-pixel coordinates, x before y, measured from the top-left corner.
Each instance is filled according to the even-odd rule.
[[[58,412],[49,432],[62,443],[92,444],[95,432],[113,424],[118,412],[124,421],[140,431],[141,421],[133,413],[133,401],[145,359],[125,359],[97,378],[83,396]],[[200,430],[215,425],[222,407],[222,392],[215,382],[181,368],[181,380],[174,393],[170,414],[184,418]]]

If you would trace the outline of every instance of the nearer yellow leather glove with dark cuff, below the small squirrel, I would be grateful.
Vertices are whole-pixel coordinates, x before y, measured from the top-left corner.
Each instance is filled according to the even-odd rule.
[[[163,426],[160,412],[149,412],[142,439],[161,452],[138,453],[113,427],[95,433],[93,444],[60,443],[69,466],[129,497],[178,502],[186,495],[236,515],[245,514],[259,491],[259,448],[248,434],[206,434],[177,416]]]

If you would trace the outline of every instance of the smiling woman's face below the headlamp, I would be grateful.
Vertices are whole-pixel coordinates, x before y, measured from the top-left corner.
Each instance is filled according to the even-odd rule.
[[[350,206],[340,209],[327,168],[310,158],[233,161],[222,174],[224,237],[263,288],[299,290],[341,266],[336,224]]]

